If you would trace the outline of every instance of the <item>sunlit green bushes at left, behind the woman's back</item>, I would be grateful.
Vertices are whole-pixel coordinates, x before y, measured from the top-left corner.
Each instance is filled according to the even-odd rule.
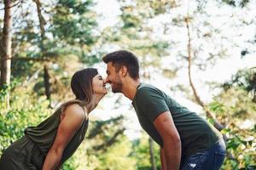
[[[25,127],[35,126],[50,115],[49,101],[44,97],[37,98],[26,88],[17,88],[12,91],[10,109],[4,107],[4,95],[9,93],[1,90],[0,107],[0,155],[3,150],[23,135]],[[35,100],[36,99],[36,100]]]

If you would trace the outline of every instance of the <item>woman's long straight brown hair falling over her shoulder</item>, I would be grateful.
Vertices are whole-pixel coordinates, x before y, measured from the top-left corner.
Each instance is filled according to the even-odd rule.
[[[91,111],[95,107],[96,104],[93,99],[92,79],[97,74],[98,71],[95,68],[83,69],[76,71],[73,74],[71,79],[71,88],[76,99],[67,101],[61,105],[61,112],[64,112],[68,105],[72,105],[74,103],[77,103],[82,107],[85,106],[87,111]]]

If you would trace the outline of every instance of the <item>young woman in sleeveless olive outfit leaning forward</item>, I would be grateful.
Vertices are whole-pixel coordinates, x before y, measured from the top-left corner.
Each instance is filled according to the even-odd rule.
[[[76,99],[61,105],[37,127],[27,127],[25,135],[3,152],[0,169],[59,169],[73,155],[87,131],[88,114],[107,89],[94,68],[77,71],[71,88]]]

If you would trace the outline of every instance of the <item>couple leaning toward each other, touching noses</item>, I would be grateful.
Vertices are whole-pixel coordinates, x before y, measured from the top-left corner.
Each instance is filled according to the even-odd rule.
[[[160,145],[163,170],[221,167],[222,134],[160,89],[141,82],[134,54],[119,50],[102,60],[107,64],[106,80],[94,68],[77,71],[71,80],[76,99],[62,104],[37,127],[26,127],[25,135],[4,150],[0,169],[60,169],[83,141],[90,111],[107,94],[107,82],[113,93],[131,99],[141,126]]]

